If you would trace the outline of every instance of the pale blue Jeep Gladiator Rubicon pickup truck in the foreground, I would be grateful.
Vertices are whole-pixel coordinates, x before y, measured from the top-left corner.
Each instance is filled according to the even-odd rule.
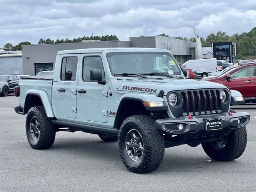
[[[164,148],[202,144],[213,160],[230,161],[246,148],[246,112],[230,112],[242,95],[222,84],[186,79],[168,50],[93,48],[60,51],[54,77],[22,77],[15,88],[34,149],[52,146],[58,131],[118,141],[132,172],[156,170]]]

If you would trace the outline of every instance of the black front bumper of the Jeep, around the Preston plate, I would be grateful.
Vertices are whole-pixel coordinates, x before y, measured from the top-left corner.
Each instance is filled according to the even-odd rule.
[[[222,129],[219,130],[206,130],[206,119],[222,118]],[[180,118],[158,119],[156,120],[156,129],[164,134],[169,135],[218,135],[222,132],[230,132],[238,128],[246,126],[250,122],[250,115],[247,112],[239,113],[220,113],[203,116],[182,116]],[[175,127],[183,124],[184,130],[175,130]],[[170,129],[170,127],[172,127]]]

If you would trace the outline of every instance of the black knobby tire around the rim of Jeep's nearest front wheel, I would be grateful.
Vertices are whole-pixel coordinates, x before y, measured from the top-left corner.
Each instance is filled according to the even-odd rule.
[[[132,160],[126,152],[126,135],[135,129],[143,140],[143,153],[139,160]],[[148,173],[156,170],[164,158],[164,137],[156,130],[155,120],[146,115],[134,115],[122,123],[118,135],[119,153],[128,170]]]

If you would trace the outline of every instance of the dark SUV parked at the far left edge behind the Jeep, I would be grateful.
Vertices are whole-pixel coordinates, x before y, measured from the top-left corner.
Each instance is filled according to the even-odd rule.
[[[0,75],[0,96],[14,93],[14,87],[18,86],[19,77],[16,75]]]

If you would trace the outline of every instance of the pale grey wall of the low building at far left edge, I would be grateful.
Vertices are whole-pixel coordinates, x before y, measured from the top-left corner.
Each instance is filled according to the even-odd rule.
[[[0,74],[23,75],[22,56],[0,56]]]

